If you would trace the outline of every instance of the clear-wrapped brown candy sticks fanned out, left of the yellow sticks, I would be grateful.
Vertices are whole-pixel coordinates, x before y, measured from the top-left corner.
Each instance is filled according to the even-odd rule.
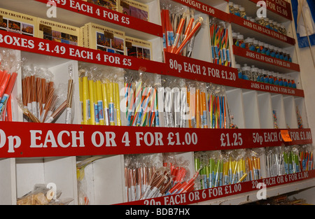
[[[22,104],[25,121],[55,122],[67,106],[66,85],[57,86],[52,73],[33,66],[27,60],[22,65]]]

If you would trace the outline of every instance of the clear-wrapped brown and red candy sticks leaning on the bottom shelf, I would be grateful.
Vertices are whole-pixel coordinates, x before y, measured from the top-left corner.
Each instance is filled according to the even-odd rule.
[[[125,155],[125,201],[195,190],[199,170],[190,177],[188,165],[176,153]]]

